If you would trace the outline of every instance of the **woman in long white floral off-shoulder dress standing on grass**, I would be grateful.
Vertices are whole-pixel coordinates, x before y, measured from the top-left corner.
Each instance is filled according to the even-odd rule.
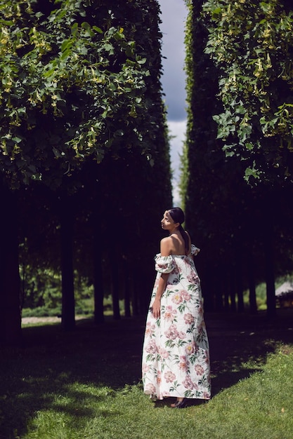
[[[188,398],[211,397],[209,342],[202,292],[193,255],[200,251],[182,227],[181,208],[164,212],[160,253],[143,344],[143,389],[153,399],[175,396],[174,408]]]

